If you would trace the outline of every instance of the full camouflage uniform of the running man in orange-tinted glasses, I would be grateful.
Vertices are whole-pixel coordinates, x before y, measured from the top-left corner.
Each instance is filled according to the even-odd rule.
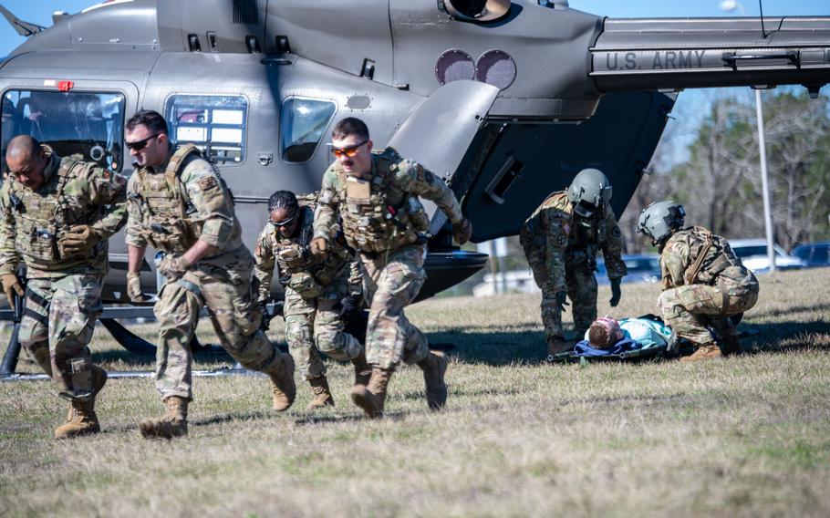
[[[446,184],[391,148],[372,152],[372,171],[362,179],[337,161],[323,176],[314,234],[328,239],[339,214],[348,245],[360,253],[369,304],[366,357],[376,368],[415,364],[429,353],[426,337],[403,314],[426,278],[419,233],[430,222],[418,196],[435,202],[452,223],[464,221]]]

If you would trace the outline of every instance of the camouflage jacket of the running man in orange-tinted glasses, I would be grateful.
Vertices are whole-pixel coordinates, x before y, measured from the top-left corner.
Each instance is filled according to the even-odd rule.
[[[429,218],[418,201],[435,202],[452,223],[463,215],[455,194],[418,162],[389,148],[372,152],[372,171],[358,179],[335,161],[323,175],[317,203],[315,237],[327,237],[339,214],[350,247],[367,253],[397,250],[418,241]]]

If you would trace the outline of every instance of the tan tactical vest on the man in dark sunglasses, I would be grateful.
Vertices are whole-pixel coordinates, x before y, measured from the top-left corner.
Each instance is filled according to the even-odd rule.
[[[169,254],[186,252],[202,235],[202,223],[192,220],[196,208],[180,178],[183,163],[192,154],[201,156],[192,144],[176,150],[164,174],[154,174],[146,167],[136,171],[134,192],[129,196],[131,203],[139,204],[140,236],[156,250]]]

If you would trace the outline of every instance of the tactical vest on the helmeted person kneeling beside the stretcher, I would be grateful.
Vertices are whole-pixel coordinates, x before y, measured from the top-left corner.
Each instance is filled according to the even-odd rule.
[[[683,232],[689,244],[690,257],[694,260],[683,273],[686,285],[713,285],[718,275],[730,266],[736,266],[743,272],[743,264],[732,252],[729,243],[720,235],[715,235],[703,227],[691,227]]]

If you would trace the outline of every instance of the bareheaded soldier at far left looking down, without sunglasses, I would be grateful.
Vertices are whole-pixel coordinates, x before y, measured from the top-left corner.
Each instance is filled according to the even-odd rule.
[[[56,439],[97,433],[95,398],[107,373],[88,344],[101,313],[107,239],[126,221],[127,181],[78,157],[60,158],[28,136],[9,143],[0,191],[0,279],[14,306],[24,295],[16,276],[26,264],[22,347],[70,401]]]

